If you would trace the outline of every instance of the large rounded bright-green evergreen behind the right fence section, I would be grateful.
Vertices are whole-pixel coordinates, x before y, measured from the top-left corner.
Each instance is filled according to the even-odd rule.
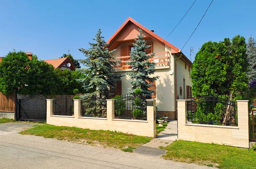
[[[202,46],[193,62],[191,72],[193,95],[195,97],[217,96],[233,101],[251,99],[251,95],[248,94],[250,92],[247,72],[248,61],[244,37],[238,35],[233,37],[232,41],[225,38],[219,43],[209,41]],[[205,102],[204,105],[198,103],[196,113],[201,113],[203,117],[209,104],[210,102]],[[234,120],[230,116],[232,112],[230,105],[220,108],[220,104],[217,104],[211,109],[213,112],[209,117],[212,120],[220,118],[224,123]],[[220,113],[225,111],[225,113],[223,116],[216,117],[218,115],[216,111]]]

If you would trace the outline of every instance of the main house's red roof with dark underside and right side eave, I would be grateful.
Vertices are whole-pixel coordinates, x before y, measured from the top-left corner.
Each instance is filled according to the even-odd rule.
[[[182,58],[183,60],[191,66],[192,62],[181,52],[181,49],[176,48],[175,46],[173,46],[172,44],[170,44],[168,41],[166,41],[165,39],[163,39],[162,37],[156,35],[155,33],[153,33],[152,31],[150,31],[149,29],[145,28],[144,26],[142,26],[141,24],[137,23],[133,18],[128,17],[128,19],[124,22],[124,24],[108,39],[107,43],[109,43],[110,45],[115,43],[115,38],[117,38],[117,36],[122,32],[123,33],[123,29],[126,26],[129,26],[130,23],[133,23],[134,25],[136,25],[137,27],[141,28],[143,31],[145,31],[147,34],[149,34],[149,36],[161,41],[163,44],[165,44],[166,46],[171,48],[171,53],[173,54],[182,54]]]

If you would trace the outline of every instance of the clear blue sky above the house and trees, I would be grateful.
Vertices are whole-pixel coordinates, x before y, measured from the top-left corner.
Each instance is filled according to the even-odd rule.
[[[54,59],[71,53],[83,59],[97,30],[107,41],[130,16],[162,38],[171,32],[194,0],[183,1],[13,1],[0,0],[0,56],[10,51]],[[211,0],[197,0],[166,39],[181,49],[198,25]],[[214,0],[182,52],[192,61],[207,41],[242,35],[256,38],[255,0]],[[190,52],[190,49],[193,52]],[[190,56],[191,53],[191,56]]]

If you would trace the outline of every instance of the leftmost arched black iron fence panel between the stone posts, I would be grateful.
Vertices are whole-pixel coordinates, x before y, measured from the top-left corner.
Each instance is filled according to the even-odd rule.
[[[74,115],[74,100],[70,97],[58,97],[53,101],[53,114],[72,116]]]

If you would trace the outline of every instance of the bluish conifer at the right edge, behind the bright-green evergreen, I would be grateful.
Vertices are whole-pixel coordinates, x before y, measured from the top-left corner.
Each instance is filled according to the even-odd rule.
[[[256,80],[256,68],[252,68],[252,66],[256,63],[256,41],[253,37],[249,37],[247,43],[247,59],[249,62],[249,71],[248,71],[248,78],[249,81]]]

